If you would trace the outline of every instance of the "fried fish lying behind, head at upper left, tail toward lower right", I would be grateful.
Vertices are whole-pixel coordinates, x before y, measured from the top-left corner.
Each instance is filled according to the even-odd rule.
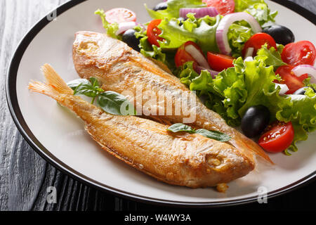
[[[156,95],[159,99],[159,91],[160,93],[163,91],[166,98],[172,98],[172,112],[176,111],[176,103],[184,101],[181,96],[185,96],[183,93],[189,90],[177,77],[167,72],[167,68],[160,68],[157,63],[145,58],[124,42],[96,32],[77,32],[75,36],[72,56],[74,67],[80,77],[86,79],[98,77],[103,84],[102,88],[106,90],[118,93],[131,91],[133,98],[130,98],[130,101],[134,101],[135,105],[137,99],[142,99],[141,103],[144,104],[149,95]],[[137,91],[138,89],[141,92]],[[273,163],[254,141],[228,126],[218,113],[206,108],[197,96],[195,98],[195,104],[188,105],[188,108],[194,108],[196,112],[196,120],[191,122],[190,126],[228,134],[232,137],[230,144],[242,150],[249,158],[255,153]],[[151,109],[157,110],[155,115],[152,115],[156,120],[178,123],[183,122],[183,118],[187,117],[183,112],[180,115],[174,113],[159,115],[159,107],[158,101],[156,105],[150,105]],[[137,105],[136,108],[138,109]]]

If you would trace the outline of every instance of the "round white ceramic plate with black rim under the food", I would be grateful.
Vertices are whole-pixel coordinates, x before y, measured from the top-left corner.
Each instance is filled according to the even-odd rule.
[[[150,18],[143,7],[144,1],[73,0],[58,8],[57,20],[49,22],[43,18],[29,31],[13,56],[6,90],[15,124],[29,144],[48,162],[74,178],[145,202],[192,206],[246,203],[257,200],[261,191],[275,196],[315,178],[316,132],[310,134],[308,141],[299,143],[298,152],[291,157],[282,153],[270,155],[275,167],[259,167],[232,181],[227,193],[218,193],[213,188],[190,189],[164,184],[108,155],[84,131],[83,122],[51,98],[29,93],[27,84],[31,79],[43,80],[39,68],[44,63],[53,65],[65,81],[78,78],[72,63],[74,33],[104,32],[98,16],[93,14],[97,8],[130,8],[138,15],[138,21],[147,22]],[[147,1],[147,4],[152,7],[158,2]],[[315,23],[315,15],[282,2],[305,18],[268,1],[272,10],[279,11],[277,23],[289,27],[296,41],[308,39],[316,44],[316,27],[310,22]]]

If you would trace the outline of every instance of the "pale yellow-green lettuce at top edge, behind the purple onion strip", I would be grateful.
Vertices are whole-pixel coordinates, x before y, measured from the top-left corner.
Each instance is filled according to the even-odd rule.
[[[206,7],[206,4],[202,0],[169,0],[167,6],[164,10],[153,11],[145,4],[148,14],[153,19],[179,18],[180,8],[202,8]]]

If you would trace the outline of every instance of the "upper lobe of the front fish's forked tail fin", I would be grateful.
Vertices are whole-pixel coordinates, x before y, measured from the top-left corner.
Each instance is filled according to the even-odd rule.
[[[45,64],[41,67],[46,78],[46,84],[53,87],[55,91],[58,91],[60,94],[73,94],[74,91],[67,86],[66,82],[55,72],[55,70],[49,64]]]

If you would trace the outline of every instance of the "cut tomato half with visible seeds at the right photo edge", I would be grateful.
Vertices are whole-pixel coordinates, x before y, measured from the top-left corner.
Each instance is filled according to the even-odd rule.
[[[289,65],[314,65],[315,46],[310,41],[298,41],[284,46],[281,58]]]

